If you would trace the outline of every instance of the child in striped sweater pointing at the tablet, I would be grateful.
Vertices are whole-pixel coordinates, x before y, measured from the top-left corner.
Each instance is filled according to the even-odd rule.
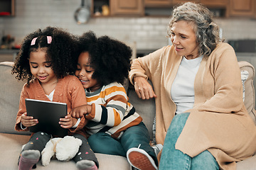
[[[157,169],[154,148],[142,118],[128,102],[122,83],[128,77],[132,50],[124,43],[89,31],[78,38],[80,55],[75,75],[85,89],[87,104],[73,109],[85,117],[94,152],[121,155],[137,169]]]

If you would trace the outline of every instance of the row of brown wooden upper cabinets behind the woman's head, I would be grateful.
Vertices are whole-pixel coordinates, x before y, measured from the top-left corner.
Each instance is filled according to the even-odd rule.
[[[9,1],[9,0],[0,0]],[[14,0],[10,0],[14,1]],[[256,0],[91,0],[92,17],[102,15],[102,6],[107,6],[110,16],[166,16],[171,9],[186,1],[201,3],[216,17],[256,18]],[[100,13],[97,15],[97,13]]]

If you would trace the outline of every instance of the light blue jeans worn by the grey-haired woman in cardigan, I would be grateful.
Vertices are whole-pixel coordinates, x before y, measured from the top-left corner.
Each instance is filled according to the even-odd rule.
[[[198,154],[196,157],[189,157],[187,154],[183,154],[178,149],[175,149],[175,144],[178,140],[181,131],[183,130],[189,113],[181,113],[174,116],[171,121],[171,125],[167,131],[166,138],[164,140],[163,152],[161,154],[161,160],[159,164],[159,170],[166,169],[219,169],[218,163],[208,150],[205,150]]]

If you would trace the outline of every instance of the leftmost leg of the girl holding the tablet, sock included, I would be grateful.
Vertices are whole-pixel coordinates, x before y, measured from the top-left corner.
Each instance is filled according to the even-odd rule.
[[[23,147],[18,160],[18,169],[32,169],[41,157],[41,152],[50,140],[50,135],[45,132],[36,132],[28,143]]]

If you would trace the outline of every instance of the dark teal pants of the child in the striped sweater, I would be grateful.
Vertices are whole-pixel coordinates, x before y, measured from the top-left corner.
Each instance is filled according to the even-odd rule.
[[[88,142],[93,152],[102,154],[121,155],[126,157],[127,150],[132,147],[144,149],[154,159],[156,166],[158,165],[154,149],[149,145],[149,131],[144,123],[132,126],[124,130],[122,137],[117,140],[105,132],[97,132],[90,135]]]

